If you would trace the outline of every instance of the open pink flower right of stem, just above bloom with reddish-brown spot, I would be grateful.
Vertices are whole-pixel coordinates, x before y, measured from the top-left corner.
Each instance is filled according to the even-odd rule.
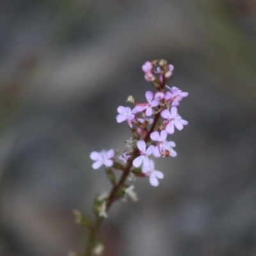
[[[183,125],[188,124],[188,121],[183,120],[182,117],[177,113],[176,107],[172,107],[171,110],[164,109],[161,112],[161,116],[166,119],[164,121],[164,124],[167,124],[165,131],[168,132],[169,134],[173,134],[175,127],[178,130],[182,130]]]

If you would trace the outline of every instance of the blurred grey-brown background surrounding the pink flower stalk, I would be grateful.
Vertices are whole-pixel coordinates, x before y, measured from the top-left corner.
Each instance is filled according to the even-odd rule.
[[[124,148],[116,108],[158,58],[189,125],[160,186],[113,205],[104,255],[256,255],[255,32],[254,0],[0,1],[0,255],[83,252],[72,210],[110,188],[90,152]]]

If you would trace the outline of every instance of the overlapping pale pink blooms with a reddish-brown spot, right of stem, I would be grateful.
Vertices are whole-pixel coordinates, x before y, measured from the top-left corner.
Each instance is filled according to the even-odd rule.
[[[160,134],[157,131],[150,134],[151,140],[157,141],[157,146],[154,148],[153,155],[154,157],[160,156],[177,156],[177,153],[173,150],[172,147],[175,147],[173,141],[166,141],[167,132],[165,130],[161,131]]]

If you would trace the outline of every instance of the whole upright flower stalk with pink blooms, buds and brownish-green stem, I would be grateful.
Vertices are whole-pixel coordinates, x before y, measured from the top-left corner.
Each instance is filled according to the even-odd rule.
[[[164,174],[154,170],[154,161],[148,157],[151,154],[154,157],[177,156],[173,150],[175,143],[166,141],[166,137],[168,134],[173,134],[175,129],[182,130],[184,125],[188,124],[177,113],[177,106],[184,97],[188,96],[188,93],[165,84],[172,78],[173,65],[168,65],[165,60],[147,61],[143,64],[142,70],[145,80],[152,83],[157,92],[147,91],[146,103],[138,103],[130,95],[127,101],[134,104],[134,108],[124,106],[117,108],[116,121],[118,123],[126,121],[132,134],[132,139],[125,143],[124,153],[118,156],[118,152],[110,149],[90,154],[90,158],[95,161],[92,165],[93,169],[105,166],[112,188],[107,196],[97,196],[93,203],[95,221],[86,225],[89,234],[84,256],[102,255],[104,247],[99,241],[99,230],[104,219],[108,217],[111,205],[120,198],[123,198],[124,202],[127,198],[131,198],[134,202],[138,200],[133,190],[134,185],[130,186],[126,182],[134,181],[134,177],[148,177],[152,186],[159,185],[158,179],[163,179]],[[118,181],[115,179],[114,170],[122,172]],[[77,216],[79,220],[83,220],[81,216]]]

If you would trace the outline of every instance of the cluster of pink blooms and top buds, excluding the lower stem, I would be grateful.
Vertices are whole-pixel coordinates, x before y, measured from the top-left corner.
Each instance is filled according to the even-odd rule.
[[[173,65],[168,65],[167,61],[147,61],[143,64],[142,70],[145,80],[152,83],[156,92],[148,90],[145,93],[146,102],[136,102],[129,96],[127,101],[134,107],[117,108],[116,121],[127,122],[132,139],[127,141],[122,154],[111,149],[92,152],[90,157],[95,161],[93,169],[98,169],[103,164],[108,170],[113,168],[126,172],[127,177],[129,173],[136,177],[148,177],[152,186],[158,186],[158,179],[163,179],[164,175],[155,170],[154,161],[149,159],[149,156],[177,156],[173,149],[175,143],[168,141],[167,136],[176,130],[181,131],[184,125],[188,125],[188,121],[184,120],[177,110],[177,106],[188,93],[175,86],[171,88],[166,85],[173,75]]]

